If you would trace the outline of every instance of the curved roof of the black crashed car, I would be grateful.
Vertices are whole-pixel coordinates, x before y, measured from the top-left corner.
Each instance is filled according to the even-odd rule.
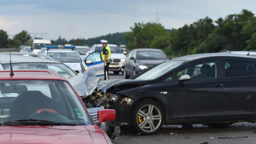
[[[220,52],[220,53],[206,53],[206,54],[192,54],[188,56],[181,56],[178,58],[173,58],[172,60],[184,60],[184,61],[190,61],[190,60],[195,60],[199,58],[207,58],[207,57],[219,57],[219,56],[233,56],[233,57],[240,57],[240,58],[255,58],[252,56],[247,56],[247,55],[241,55],[241,54],[231,54],[228,52]]]

